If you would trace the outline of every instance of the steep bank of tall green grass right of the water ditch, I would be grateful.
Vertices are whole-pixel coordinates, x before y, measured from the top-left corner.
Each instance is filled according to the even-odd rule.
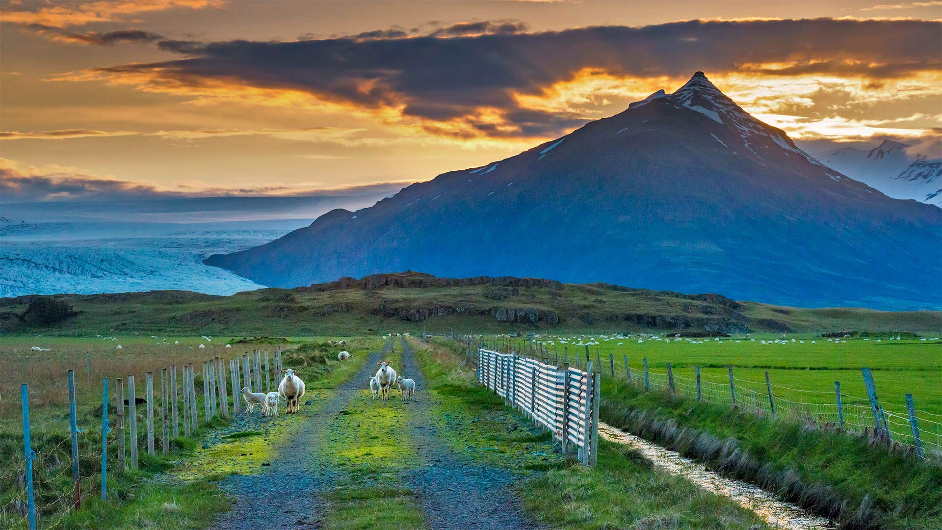
[[[942,467],[866,436],[604,380],[604,422],[845,528],[942,528]]]

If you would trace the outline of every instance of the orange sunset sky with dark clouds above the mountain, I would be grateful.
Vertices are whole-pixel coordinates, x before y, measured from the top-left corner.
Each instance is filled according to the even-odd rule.
[[[806,149],[934,154],[940,20],[942,1],[0,0],[0,201],[394,190],[698,70]]]

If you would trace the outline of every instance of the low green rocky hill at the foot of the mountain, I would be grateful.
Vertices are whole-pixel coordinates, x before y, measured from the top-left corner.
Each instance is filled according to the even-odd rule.
[[[49,298],[72,306],[77,314],[52,325],[20,318],[30,302]],[[10,334],[137,331],[300,336],[423,327],[430,332],[455,328],[481,332],[937,333],[942,327],[942,311],[809,309],[737,302],[719,294],[562,284],[538,278],[437,278],[411,272],[374,274],[360,280],[341,278],[306,288],[254,290],[232,296],[155,290],[0,299],[0,331]]]

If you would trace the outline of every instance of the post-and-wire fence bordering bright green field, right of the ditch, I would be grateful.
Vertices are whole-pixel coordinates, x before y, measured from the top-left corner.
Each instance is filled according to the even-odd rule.
[[[916,408],[912,394],[906,394],[906,407],[879,401],[869,368],[861,370],[869,395],[860,397],[841,391],[839,382],[835,382],[834,391],[824,391],[774,384],[768,372],[765,373],[765,381],[744,379],[736,374],[737,369],[732,366],[728,367],[728,377],[701,372],[700,367],[694,367],[693,374],[682,374],[674,371],[670,363],[667,363],[666,369],[654,369],[648,366],[646,358],[640,362],[629,362],[624,355],[620,359],[612,354],[603,356],[599,349],[595,350],[594,356],[587,348],[584,355],[568,354],[561,359],[559,353],[550,352],[534,340],[485,339],[475,336],[452,338],[466,342],[469,352],[479,344],[486,344],[498,352],[514,352],[520,356],[541,358],[546,362],[572,361],[577,367],[580,363],[585,365],[592,361],[596,371],[602,375],[625,379],[641,389],[665,391],[706,403],[736,406],[739,410],[762,416],[776,415],[858,433],[909,448],[920,458],[942,460],[942,414]],[[806,397],[789,399],[784,395]]]

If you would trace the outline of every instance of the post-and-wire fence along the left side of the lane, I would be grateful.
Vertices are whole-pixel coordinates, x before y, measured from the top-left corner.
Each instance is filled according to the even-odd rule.
[[[277,385],[281,347],[272,353],[269,363],[265,352],[264,365],[262,351],[255,350],[241,358],[214,356],[182,366],[159,367],[148,372],[143,381],[135,382],[134,375],[126,380],[104,378],[97,414],[90,415],[79,415],[75,410],[70,371],[71,426],[66,434],[58,426],[44,424],[40,432],[30,428],[30,393],[28,385],[22,385],[23,451],[0,469],[0,527],[19,526],[25,520],[30,530],[50,530],[62,526],[62,516],[77,509],[88,495],[107,500],[103,473],[110,476],[126,468],[154,467],[158,454],[170,453],[172,439],[198,438],[201,424],[227,418],[230,411],[239,412],[238,389],[267,390],[272,375]],[[196,373],[193,367],[201,364],[203,373]],[[86,424],[80,424],[83,422]],[[83,486],[94,488],[83,491]]]

